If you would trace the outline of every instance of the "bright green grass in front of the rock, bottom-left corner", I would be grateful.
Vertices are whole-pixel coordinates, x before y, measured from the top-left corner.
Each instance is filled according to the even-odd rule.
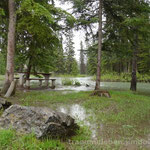
[[[12,130],[0,130],[0,148],[7,150],[65,150],[60,140],[38,140],[34,134],[18,135]]]

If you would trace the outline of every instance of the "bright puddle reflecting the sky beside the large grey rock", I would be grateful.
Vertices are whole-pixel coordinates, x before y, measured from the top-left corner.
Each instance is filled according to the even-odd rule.
[[[80,106],[79,104],[73,104],[73,105],[64,105],[59,106],[57,108],[57,111],[63,112],[65,114],[69,114],[71,117],[75,118],[77,123],[80,123],[81,125],[86,125],[90,128],[92,132],[92,138],[97,137],[97,125],[96,122],[93,122],[94,120],[94,114],[92,112],[87,112],[84,107]],[[92,117],[92,121],[89,119]]]

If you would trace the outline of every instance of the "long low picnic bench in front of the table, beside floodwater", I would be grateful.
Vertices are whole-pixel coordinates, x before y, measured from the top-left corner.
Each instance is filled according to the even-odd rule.
[[[30,89],[30,81],[31,80],[35,80],[35,81],[39,81],[39,86],[42,86],[42,81],[45,81],[45,86],[48,87],[49,86],[49,80],[52,81],[52,89],[55,89],[55,80],[56,79],[43,79],[43,78],[30,78],[30,79],[26,79],[26,88]]]

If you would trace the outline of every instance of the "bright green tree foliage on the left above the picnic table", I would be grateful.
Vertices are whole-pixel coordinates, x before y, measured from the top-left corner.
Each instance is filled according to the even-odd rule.
[[[66,11],[55,7],[49,0],[17,0],[17,25],[16,25],[16,55],[15,69],[24,64],[30,71],[55,71],[55,58],[58,55],[60,42],[57,33],[74,24],[74,17]],[[8,8],[7,1],[0,2],[0,37],[2,37],[2,51],[5,51]],[[4,17],[3,17],[4,16]],[[63,24],[62,24],[63,22]],[[1,30],[2,29],[2,30]],[[28,77],[29,77],[28,74]]]

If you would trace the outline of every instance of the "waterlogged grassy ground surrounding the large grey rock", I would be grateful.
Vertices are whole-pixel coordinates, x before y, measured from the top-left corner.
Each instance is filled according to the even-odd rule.
[[[8,150],[120,150],[150,149],[150,96],[130,91],[110,91],[111,98],[91,92],[29,91],[8,100],[25,106],[46,106],[66,112],[80,126],[67,141],[37,140],[0,130],[0,148]]]

